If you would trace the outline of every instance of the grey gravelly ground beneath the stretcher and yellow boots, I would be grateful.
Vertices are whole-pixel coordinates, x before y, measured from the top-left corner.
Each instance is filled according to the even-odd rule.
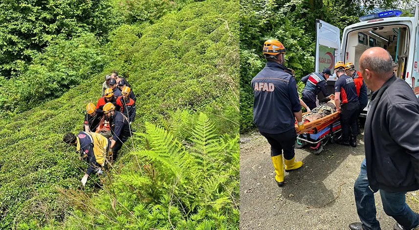
[[[363,136],[356,148],[328,143],[320,155],[309,147],[295,149],[302,168],[285,173],[285,186],[275,183],[270,146],[259,133],[240,137],[240,229],[241,230],[348,230],[359,222],[353,183],[364,159]],[[328,204],[339,193],[339,197]],[[418,212],[419,193],[407,195]],[[382,230],[393,230],[396,221],[382,208],[375,194],[377,219]]]

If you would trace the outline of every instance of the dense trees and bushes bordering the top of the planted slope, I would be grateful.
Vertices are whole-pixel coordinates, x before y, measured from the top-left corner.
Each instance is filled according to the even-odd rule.
[[[110,62],[114,53],[104,48],[112,34],[124,32],[120,27],[135,25],[133,30],[139,33],[163,15],[194,1],[0,3],[0,115],[26,111],[88,81]]]

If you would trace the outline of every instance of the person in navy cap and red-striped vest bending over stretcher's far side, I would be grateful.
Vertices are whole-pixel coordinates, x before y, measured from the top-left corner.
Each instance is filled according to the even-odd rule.
[[[301,92],[301,96],[303,102],[309,106],[310,110],[317,106],[316,99],[317,94],[319,94],[320,91],[322,91],[323,95],[325,96],[325,98],[321,100],[322,102],[328,102],[330,100],[328,84],[326,83],[330,75],[330,69],[325,68],[321,73],[313,72],[301,79],[301,81],[306,84],[303,91]]]

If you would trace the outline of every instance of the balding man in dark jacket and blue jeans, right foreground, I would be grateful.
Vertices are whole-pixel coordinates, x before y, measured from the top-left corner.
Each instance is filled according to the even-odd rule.
[[[366,50],[359,67],[374,91],[365,122],[365,159],[354,184],[356,209],[362,223],[351,230],[380,230],[374,193],[397,223],[395,230],[419,226],[419,214],[406,204],[406,192],[419,189],[419,101],[412,88],[393,72],[390,54],[380,47]]]

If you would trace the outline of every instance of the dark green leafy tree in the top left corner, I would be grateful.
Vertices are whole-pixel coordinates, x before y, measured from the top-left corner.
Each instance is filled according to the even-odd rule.
[[[61,35],[91,32],[106,36],[114,26],[106,0],[2,0],[0,2],[0,76],[17,76],[24,64]]]

